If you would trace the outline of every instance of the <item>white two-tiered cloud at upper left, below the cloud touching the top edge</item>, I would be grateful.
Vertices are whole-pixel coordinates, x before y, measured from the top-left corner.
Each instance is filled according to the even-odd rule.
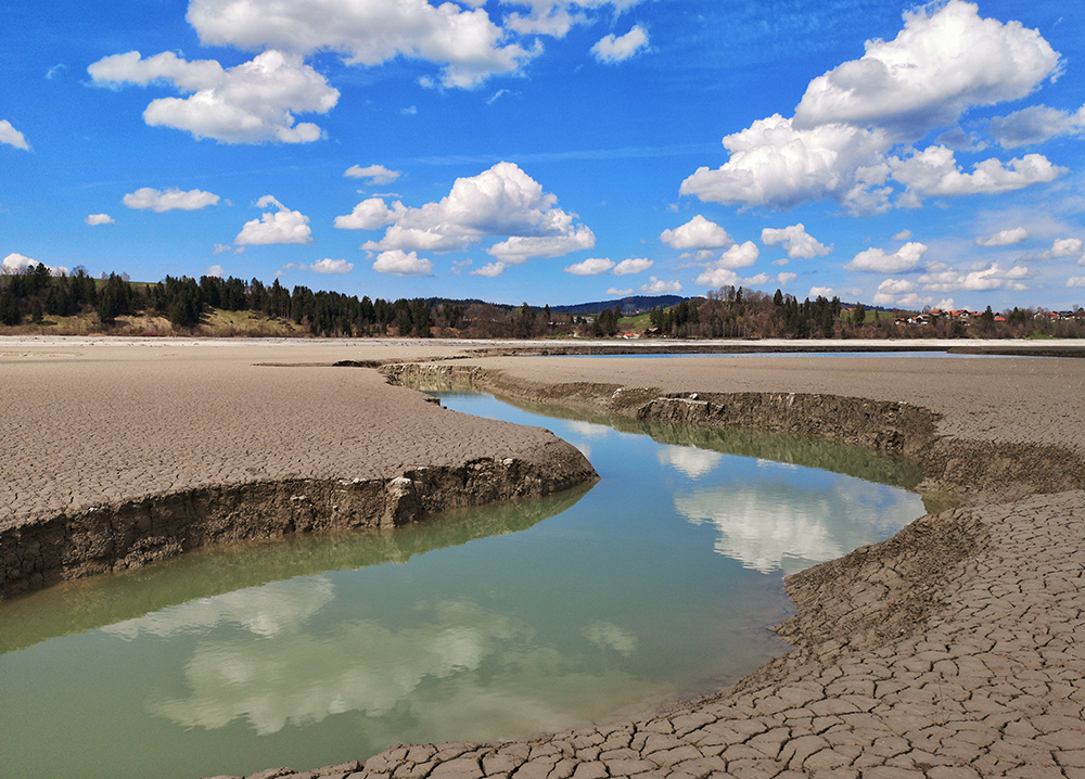
[[[173,82],[191,94],[152,101],[143,120],[221,143],[315,141],[320,128],[295,125],[294,113],[323,114],[339,101],[339,90],[301,55],[273,50],[229,69],[215,60],[188,62],[171,52],[143,60],[132,51],[99,60],[87,72],[104,85]]]

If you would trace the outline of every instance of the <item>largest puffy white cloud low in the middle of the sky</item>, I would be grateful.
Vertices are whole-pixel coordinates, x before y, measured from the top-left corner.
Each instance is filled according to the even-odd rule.
[[[384,238],[368,241],[362,248],[455,252],[486,238],[508,237],[486,251],[511,265],[528,257],[560,257],[591,248],[596,243],[591,230],[575,225],[575,215],[566,214],[557,203],[556,195],[544,193],[541,184],[520,167],[498,163],[477,176],[456,179],[445,197],[420,208],[397,210],[398,204],[390,208],[380,199],[360,204],[371,217],[367,224],[391,220]]]

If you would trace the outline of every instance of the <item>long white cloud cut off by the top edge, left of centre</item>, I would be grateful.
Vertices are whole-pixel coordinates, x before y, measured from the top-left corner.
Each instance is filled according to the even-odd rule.
[[[477,4],[477,3],[470,3]],[[446,87],[473,87],[513,73],[541,51],[508,42],[482,8],[425,0],[191,0],[188,20],[201,41],[297,54],[331,50],[349,64],[397,56],[444,66]]]

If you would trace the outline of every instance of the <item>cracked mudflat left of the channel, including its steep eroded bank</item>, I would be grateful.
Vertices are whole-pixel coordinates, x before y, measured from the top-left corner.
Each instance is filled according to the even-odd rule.
[[[409,344],[84,340],[0,354],[0,598],[202,544],[398,524],[591,477],[546,431],[330,367],[417,355]]]

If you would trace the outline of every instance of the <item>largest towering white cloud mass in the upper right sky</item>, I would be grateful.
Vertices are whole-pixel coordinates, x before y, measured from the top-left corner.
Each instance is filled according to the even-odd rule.
[[[974,4],[949,0],[906,13],[894,40],[868,41],[866,49],[860,60],[810,81],[794,117],[774,114],[724,138],[729,161],[698,168],[681,194],[774,208],[828,197],[869,214],[926,196],[1006,192],[1062,173],[1026,155],[962,174],[944,146],[889,157],[971,106],[1026,97],[1058,75],[1059,55],[1036,30],[981,18]],[[927,170],[932,164],[936,170]],[[894,183],[907,188],[896,201]]]

